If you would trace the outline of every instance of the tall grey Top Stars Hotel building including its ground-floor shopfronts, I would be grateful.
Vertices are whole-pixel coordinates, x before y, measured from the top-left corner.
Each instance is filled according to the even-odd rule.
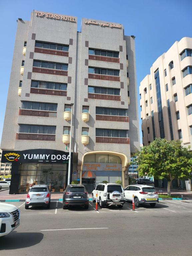
[[[88,191],[128,184],[139,149],[134,36],[121,24],[33,11],[18,19],[1,149],[12,162],[10,193],[31,184]],[[71,125],[72,118],[72,125]],[[16,161],[16,162],[15,162]]]

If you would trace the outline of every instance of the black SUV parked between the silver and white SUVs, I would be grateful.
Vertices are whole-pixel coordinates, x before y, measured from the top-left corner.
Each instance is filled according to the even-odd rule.
[[[89,195],[83,185],[67,185],[63,192],[63,209],[69,205],[83,205],[85,209],[89,208]]]

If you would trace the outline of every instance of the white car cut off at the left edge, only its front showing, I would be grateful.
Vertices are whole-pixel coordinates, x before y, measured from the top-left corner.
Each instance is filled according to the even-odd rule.
[[[19,223],[19,209],[12,204],[0,203],[0,237],[8,235]]]

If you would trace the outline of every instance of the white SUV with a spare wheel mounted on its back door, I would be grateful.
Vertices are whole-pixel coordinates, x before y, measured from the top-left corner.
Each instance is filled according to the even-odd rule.
[[[115,183],[100,183],[97,185],[96,189],[92,191],[92,200],[96,201],[96,193],[97,199],[100,207],[104,207],[106,205],[118,205],[119,208],[123,207],[125,203],[125,193],[123,187],[120,184]]]

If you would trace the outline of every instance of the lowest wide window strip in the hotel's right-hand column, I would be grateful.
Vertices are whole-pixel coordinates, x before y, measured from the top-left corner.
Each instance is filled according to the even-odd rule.
[[[97,137],[127,138],[127,130],[96,128],[96,136]]]

